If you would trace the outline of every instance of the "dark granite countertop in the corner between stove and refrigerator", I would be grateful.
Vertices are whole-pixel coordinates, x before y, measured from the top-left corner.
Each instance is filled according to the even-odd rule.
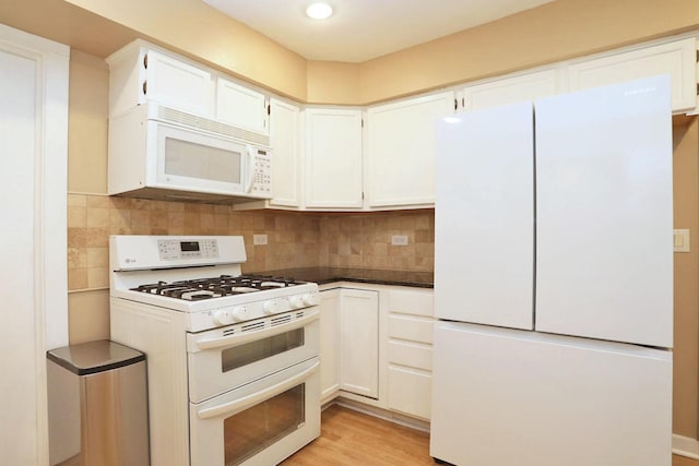
[[[382,271],[344,267],[305,267],[262,271],[256,273],[260,275],[274,275],[294,278],[301,282],[315,282],[318,285],[325,285],[333,282],[356,282],[370,283],[375,285],[396,285],[433,288],[435,283],[434,274],[431,272]]]

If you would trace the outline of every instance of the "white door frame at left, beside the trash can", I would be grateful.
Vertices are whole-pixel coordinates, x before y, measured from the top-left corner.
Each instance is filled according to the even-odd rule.
[[[27,216],[29,222],[33,219],[35,231],[35,360],[22,362],[26,362],[27,370],[36,371],[36,406],[35,409],[27,409],[27,413],[36,413],[36,464],[46,465],[46,350],[68,345],[67,174],[70,48],[0,24],[0,50],[22,56],[36,63],[35,201],[33,218],[32,215]],[[8,357],[12,357],[12,348],[3,349]],[[12,377],[12,373],[4,375]]]

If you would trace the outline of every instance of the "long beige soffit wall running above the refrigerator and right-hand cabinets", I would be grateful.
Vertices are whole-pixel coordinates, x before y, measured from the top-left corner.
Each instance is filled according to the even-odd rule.
[[[699,27],[696,0],[558,0],[362,63],[372,103]]]

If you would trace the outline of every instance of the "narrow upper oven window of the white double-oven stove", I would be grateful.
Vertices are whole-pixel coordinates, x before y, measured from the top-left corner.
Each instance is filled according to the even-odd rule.
[[[304,328],[296,328],[269,338],[234,346],[221,351],[221,369],[227,372],[299,346],[304,346]]]

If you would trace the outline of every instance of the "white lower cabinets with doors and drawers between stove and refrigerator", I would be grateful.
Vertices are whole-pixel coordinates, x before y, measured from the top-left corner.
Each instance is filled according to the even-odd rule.
[[[429,420],[433,290],[351,286],[320,292],[322,402],[343,396]]]

